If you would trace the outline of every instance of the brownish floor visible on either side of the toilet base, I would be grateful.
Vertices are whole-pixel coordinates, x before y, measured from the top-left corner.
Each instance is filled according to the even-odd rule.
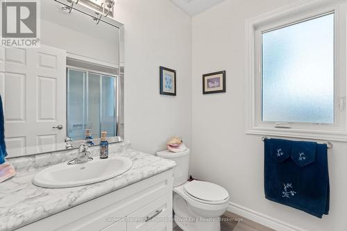
[[[254,221],[244,219],[242,216],[226,212],[222,216],[221,231],[275,231]],[[174,224],[174,231],[183,231]]]

